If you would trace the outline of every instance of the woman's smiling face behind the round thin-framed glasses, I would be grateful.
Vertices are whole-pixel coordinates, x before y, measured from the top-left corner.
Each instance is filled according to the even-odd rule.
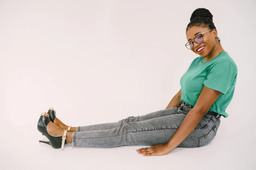
[[[208,27],[207,28],[202,28],[202,27],[197,27],[197,26],[191,27],[186,33],[187,40],[188,40],[187,42],[194,40],[196,35],[202,34],[209,30],[210,29]],[[216,36],[217,36],[216,29],[213,29],[212,31],[204,33],[203,34],[203,42],[201,42],[200,44],[197,44],[195,41],[193,41],[194,48],[192,49],[192,51],[195,52],[196,54],[200,55],[201,57],[208,56],[209,54],[211,54],[211,52],[217,45],[217,41],[215,40]],[[197,49],[202,46],[204,46],[204,48],[201,51],[197,52]]]

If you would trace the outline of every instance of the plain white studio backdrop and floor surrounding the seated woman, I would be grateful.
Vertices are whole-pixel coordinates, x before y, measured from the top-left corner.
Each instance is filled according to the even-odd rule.
[[[53,149],[36,128],[49,107],[66,125],[165,109],[198,57],[185,47],[196,8],[213,14],[238,68],[214,140],[144,157],[136,149]],[[0,169],[255,169],[255,15],[247,1],[0,1]]]

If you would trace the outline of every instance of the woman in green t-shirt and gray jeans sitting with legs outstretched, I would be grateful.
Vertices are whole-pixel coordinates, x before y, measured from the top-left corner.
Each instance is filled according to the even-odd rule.
[[[143,156],[209,144],[217,133],[220,117],[228,117],[225,110],[233,97],[237,67],[220,44],[209,10],[198,8],[192,13],[186,36],[185,47],[200,56],[181,77],[181,89],[166,109],[114,123],[68,127],[56,118],[51,107],[38,121],[38,130],[50,142],[40,142],[61,149],[68,143],[74,147],[151,146],[137,149]]]

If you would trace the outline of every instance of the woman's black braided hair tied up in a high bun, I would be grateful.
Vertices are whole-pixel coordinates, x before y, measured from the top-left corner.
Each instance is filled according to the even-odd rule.
[[[186,28],[186,33],[188,29],[190,29],[193,26],[200,26],[203,28],[209,27],[209,29],[216,29],[213,23],[213,15],[208,9],[205,8],[197,8],[190,17],[190,22]],[[213,31],[213,30],[212,30]],[[210,31],[210,32],[212,32]],[[220,39],[217,36],[219,43]]]

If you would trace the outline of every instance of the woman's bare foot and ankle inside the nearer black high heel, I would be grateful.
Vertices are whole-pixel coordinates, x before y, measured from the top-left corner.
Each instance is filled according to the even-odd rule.
[[[44,115],[49,116],[47,113],[45,113]],[[64,130],[53,122],[49,122],[49,124],[47,125],[47,131],[50,135],[53,136],[63,136],[64,134]],[[68,143],[72,143],[72,132],[67,132],[66,138]]]

